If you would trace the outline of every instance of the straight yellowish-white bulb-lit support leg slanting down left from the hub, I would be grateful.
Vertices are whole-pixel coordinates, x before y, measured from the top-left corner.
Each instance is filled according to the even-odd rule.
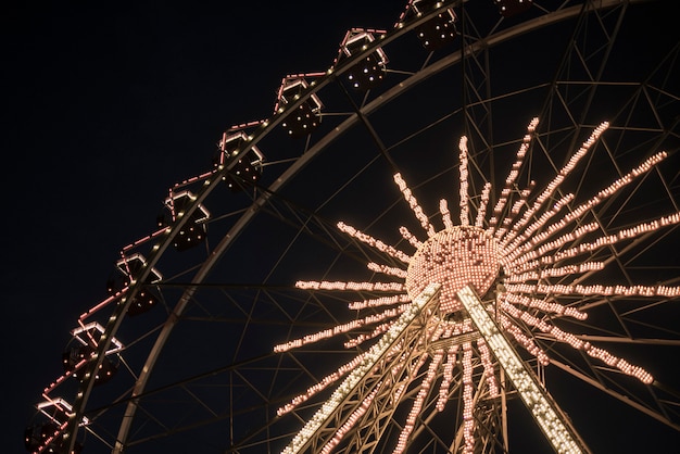
[[[354,391],[362,379],[376,367],[378,361],[392,348],[401,338],[402,332],[411,325],[411,323],[420,314],[420,311],[429,303],[438,293],[440,285],[430,283],[425,290],[413,300],[413,304],[408,311],[399,317],[392,325],[390,330],[375,343],[362,363],[356,366],[352,373],[340,383],[333,391],[332,395],[324,403],[324,405],[314,414],[300,432],[293,438],[281,454],[293,454],[301,452],[314,434],[328,421],[328,418],[338,411],[340,404]]]

